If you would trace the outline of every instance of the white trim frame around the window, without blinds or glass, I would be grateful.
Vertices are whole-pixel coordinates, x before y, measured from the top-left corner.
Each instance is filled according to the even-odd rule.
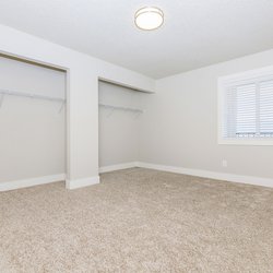
[[[225,92],[226,87],[234,84],[247,84],[256,83],[259,81],[266,81],[273,76],[273,66],[250,70],[237,74],[219,76],[217,82],[217,141],[219,145],[261,145],[261,146],[271,146],[273,145],[273,138],[264,139],[246,139],[246,138],[225,138],[223,133],[224,129],[224,110],[225,110]]]

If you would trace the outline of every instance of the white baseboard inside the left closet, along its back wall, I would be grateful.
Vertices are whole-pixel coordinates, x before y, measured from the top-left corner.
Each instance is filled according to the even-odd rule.
[[[52,176],[43,176],[43,177],[35,177],[35,178],[29,178],[29,179],[0,182],[0,191],[15,190],[15,189],[44,185],[44,183],[59,182],[59,181],[64,181],[64,179],[66,179],[66,175],[59,174],[59,175],[52,175]]]

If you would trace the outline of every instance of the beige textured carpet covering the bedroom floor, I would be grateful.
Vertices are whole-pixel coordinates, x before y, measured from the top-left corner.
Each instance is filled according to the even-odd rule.
[[[0,272],[273,272],[273,189],[133,168],[2,192]]]

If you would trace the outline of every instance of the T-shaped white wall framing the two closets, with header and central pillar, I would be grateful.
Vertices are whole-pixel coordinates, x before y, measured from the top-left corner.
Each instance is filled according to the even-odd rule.
[[[67,168],[70,181],[98,175],[98,76],[142,90],[154,80],[0,25],[0,52],[68,70]]]

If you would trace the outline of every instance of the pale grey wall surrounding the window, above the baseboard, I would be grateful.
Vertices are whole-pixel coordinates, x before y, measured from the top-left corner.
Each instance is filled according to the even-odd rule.
[[[218,76],[272,64],[270,50],[158,80],[143,100],[140,161],[273,178],[273,146],[217,144]]]

